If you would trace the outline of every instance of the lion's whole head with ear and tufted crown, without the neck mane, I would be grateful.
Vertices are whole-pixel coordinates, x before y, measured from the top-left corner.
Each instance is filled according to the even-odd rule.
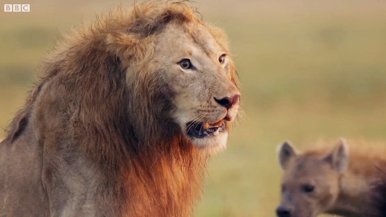
[[[115,23],[118,30],[107,36],[127,69],[128,85],[144,100],[139,122],[150,124],[146,120],[155,115],[166,125],[154,131],[175,133],[174,127],[195,146],[225,147],[240,99],[227,37],[195,17],[190,7],[162,4],[136,8],[138,19]],[[150,128],[137,126],[138,131]]]

